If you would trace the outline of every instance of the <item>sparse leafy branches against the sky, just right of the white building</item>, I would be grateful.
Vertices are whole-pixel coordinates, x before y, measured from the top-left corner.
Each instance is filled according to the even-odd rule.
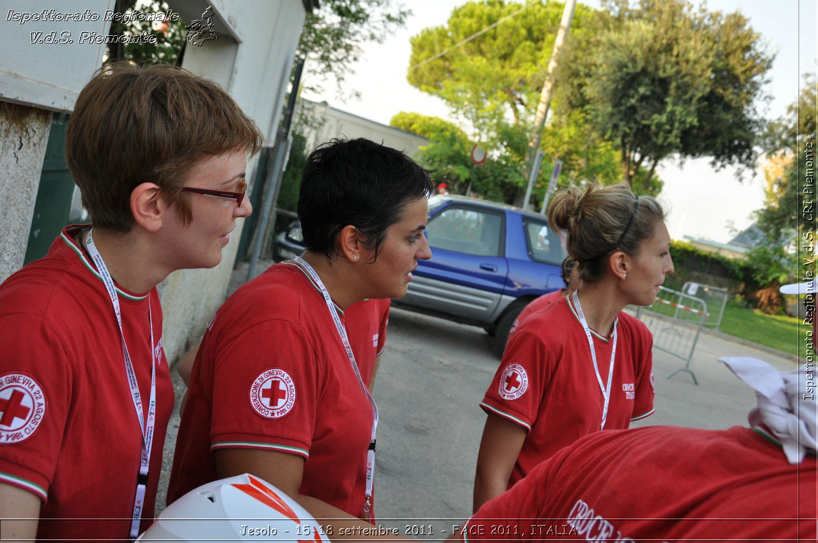
[[[392,0],[321,0],[304,20],[297,56],[307,59],[304,70],[341,83],[360,60],[362,44],[383,43],[393,30],[406,23],[411,10]],[[320,90],[317,83],[312,89]]]

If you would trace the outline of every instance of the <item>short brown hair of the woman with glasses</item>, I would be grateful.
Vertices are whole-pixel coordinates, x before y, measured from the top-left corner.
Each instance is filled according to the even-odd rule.
[[[191,169],[214,155],[263,141],[255,123],[217,83],[173,65],[103,66],[79,93],[65,133],[65,156],[95,227],[127,232],[130,196],[144,182],[190,222]]]

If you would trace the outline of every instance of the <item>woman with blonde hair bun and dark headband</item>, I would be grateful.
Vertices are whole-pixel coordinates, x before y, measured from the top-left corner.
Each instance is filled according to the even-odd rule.
[[[506,346],[480,406],[488,414],[474,510],[582,436],[627,429],[654,412],[653,338],[628,304],[654,303],[673,272],[666,213],[630,188],[555,195],[552,228],[568,231],[582,284],[534,312]]]

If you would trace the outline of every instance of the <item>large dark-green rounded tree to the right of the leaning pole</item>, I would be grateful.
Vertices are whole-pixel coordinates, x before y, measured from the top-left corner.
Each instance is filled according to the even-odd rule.
[[[754,168],[757,101],[773,56],[740,13],[694,11],[686,0],[608,0],[588,43],[570,43],[558,75],[565,110],[587,112],[614,141],[622,178],[650,182],[662,159],[708,156]]]

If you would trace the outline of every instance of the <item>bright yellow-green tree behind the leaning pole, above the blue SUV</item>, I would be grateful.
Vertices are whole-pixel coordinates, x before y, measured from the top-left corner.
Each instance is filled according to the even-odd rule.
[[[411,38],[409,83],[446,101],[470,140],[489,150],[486,164],[477,170],[480,176],[474,177],[474,173],[470,178],[474,182],[480,179],[477,184],[487,190],[483,195],[502,195],[502,200],[511,202],[524,194],[528,134],[562,12],[561,2],[468,2],[452,11],[446,25],[424,29]],[[580,49],[587,47],[595,20],[595,11],[579,4],[570,41],[578,43]],[[492,25],[496,26],[455,47]],[[450,51],[434,58],[446,50]],[[427,62],[429,58],[434,60]],[[559,96],[555,96],[556,101]],[[540,148],[545,159],[533,191],[535,204],[542,201],[555,158],[564,162],[560,187],[586,181],[622,181],[618,154],[610,141],[591,127],[582,110],[552,115]],[[432,151],[434,146],[429,146],[421,157]],[[636,172],[640,179],[647,177],[645,170],[637,168]],[[497,177],[489,177],[492,174]],[[656,194],[661,181],[654,178],[635,190]]]

